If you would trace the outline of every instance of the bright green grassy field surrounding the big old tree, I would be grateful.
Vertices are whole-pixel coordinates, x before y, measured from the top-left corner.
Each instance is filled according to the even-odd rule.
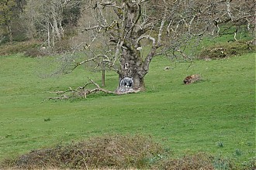
[[[50,91],[82,86],[88,76],[101,80],[82,67],[47,76],[54,61],[0,57],[0,161],[102,134],[149,134],[174,158],[203,151],[242,165],[255,156],[255,53],[192,66],[157,56],[145,77],[146,92],[45,100],[56,97]],[[194,73],[203,80],[183,85]],[[106,89],[117,86],[117,75],[107,73]]]

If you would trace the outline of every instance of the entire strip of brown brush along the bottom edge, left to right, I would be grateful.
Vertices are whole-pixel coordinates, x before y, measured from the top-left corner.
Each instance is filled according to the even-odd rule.
[[[30,151],[6,159],[0,169],[255,169],[253,159],[239,168],[233,160],[199,152],[182,158],[171,154],[152,138],[142,135],[106,135],[70,145]]]

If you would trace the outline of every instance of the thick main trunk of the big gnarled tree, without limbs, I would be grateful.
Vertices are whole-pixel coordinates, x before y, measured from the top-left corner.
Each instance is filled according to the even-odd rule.
[[[133,79],[134,90],[145,90],[144,76],[146,73],[143,73],[143,59],[140,56],[140,51],[136,49],[140,34],[133,31],[140,19],[140,5],[132,4],[127,0],[124,2],[127,11],[123,15],[123,47],[119,59],[119,81],[124,77],[130,77]]]

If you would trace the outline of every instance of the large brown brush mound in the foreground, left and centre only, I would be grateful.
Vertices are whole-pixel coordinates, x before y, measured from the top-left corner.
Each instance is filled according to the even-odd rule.
[[[3,165],[14,169],[146,168],[150,158],[162,152],[161,146],[149,137],[112,135],[30,151]]]

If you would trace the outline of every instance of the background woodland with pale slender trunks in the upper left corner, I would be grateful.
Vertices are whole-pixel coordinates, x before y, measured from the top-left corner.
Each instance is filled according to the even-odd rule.
[[[80,16],[78,1],[1,0],[0,42],[43,39],[54,46],[65,29],[75,29]]]

